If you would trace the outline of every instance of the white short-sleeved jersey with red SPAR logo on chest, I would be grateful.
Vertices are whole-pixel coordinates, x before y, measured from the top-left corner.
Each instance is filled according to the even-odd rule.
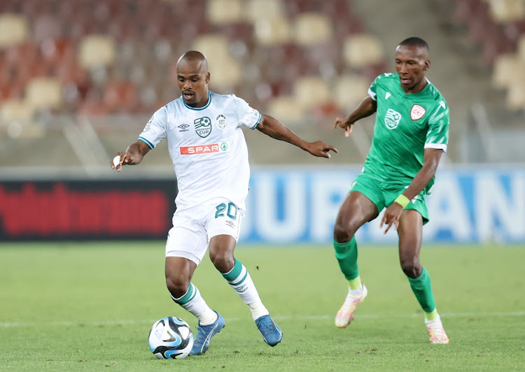
[[[241,127],[255,129],[258,110],[234,94],[209,92],[202,107],[190,107],[183,98],[160,108],[139,136],[149,148],[166,138],[179,193],[178,209],[217,197],[245,209],[250,168]]]

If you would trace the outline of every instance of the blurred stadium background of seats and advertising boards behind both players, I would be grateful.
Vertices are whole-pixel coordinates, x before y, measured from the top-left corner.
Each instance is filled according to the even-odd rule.
[[[430,44],[428,78],[451,108],[428,238],[524,243],[524,0],[2,0],[0,235],[163,238],[175,192],[165,143],[121,175],[109,162],[179,96],[174,62],[197,49],[211,90],[339,149],[326,162],[245,131],[246,242],[330,243],[374,117],[351,138],[332,122],[393,71],[407,36]],[[155,217],[111,225],[151,200]]]

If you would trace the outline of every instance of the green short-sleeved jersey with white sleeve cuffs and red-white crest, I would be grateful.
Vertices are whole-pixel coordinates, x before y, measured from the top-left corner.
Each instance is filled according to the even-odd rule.
[[[447,150],[447,101],[430,81],[421,92],[406,94],[397,73],[378,76],[368,94],[377,101],[377,113],[365,171],[384,183],[408,185],[423,166],[425,148]]]

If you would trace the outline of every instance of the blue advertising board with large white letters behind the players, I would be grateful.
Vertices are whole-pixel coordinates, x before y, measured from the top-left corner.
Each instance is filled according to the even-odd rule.
[[[253,168],[241,243],[332,242],[332,229],[358,167]],[[427,196],[425,243],[525,243],[525,167],[442,167]],[[379,216],[382,215],[382,212]],[[381,218],[360,243],[397,241]]]

